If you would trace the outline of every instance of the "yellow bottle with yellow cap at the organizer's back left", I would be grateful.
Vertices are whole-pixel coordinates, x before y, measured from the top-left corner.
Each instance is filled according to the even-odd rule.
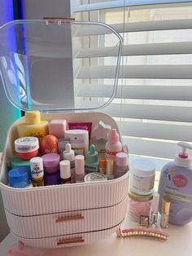
[[[26,111],[25,121],[17,126],[19,137],[37,137],[41,139],[48,134],[48,121],[41,121],[39,111]]]

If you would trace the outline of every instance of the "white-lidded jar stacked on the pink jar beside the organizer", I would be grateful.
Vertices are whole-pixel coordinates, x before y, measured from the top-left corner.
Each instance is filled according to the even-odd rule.
[[[155,183],[155,164],[146,159],[137,159],[130,168],[130,192],[149,195]]]

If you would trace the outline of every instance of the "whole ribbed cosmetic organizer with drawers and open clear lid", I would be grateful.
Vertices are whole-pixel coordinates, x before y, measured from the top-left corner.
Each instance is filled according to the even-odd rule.
[[[82,33],[83,40],[85,40],[85,34],[90,29],[93,31],[98,29],[99,33],[103,35],[113,34],[114,41],[114,38],[116,38],[114,46],[116,50],[116,72],[114,73],[114,87],[111,98],[107,103],[100,104],[99,102],[99,105],[96,106],[94,102],[94,105],[87,108],[80,107],[79,102],[81,100],[79,99],[72,103],[73,107],[68,106],[66,108],[65,106],[65,108],[61,108],[62,99],[53,100],[49,98],[49,95],[46,95],[46,100],[41,98],[46,89],[45,84],[41,87],[42,77],[37,78],[33,76],[33,73],[39,70],[38,68],[41,68],[41,65],[47,61],[51,63],[53,60],[55,62],[55,59],[61,61],[63,58],[62,64],[64,64],[66,60],[70,60],[69,55],[73,56],[73,59],[71,57],[71,63],[74,73],[76,69],[76,66],[74,66],[74,52],[75,55],[78,52],[76,51],[77,39],[82,36]],[[60,36],[61,31],[64,32],[63,34],[71,34],[70,40],[64,36],[56,38],[55,33]],[[15,44],[7,46],[11,36],[14,36]],[[63,20],[59,22],[53,20],[51,22],[46,20],[16,20],[0,28],[0,38],[3,39],[0,43],[2,81],[7,97],[12,104],[22,110],[39,109],[41,120],[50,121],[64,118],[67,121],[91,121],[92,127],[96,126],[98,121],[101,120],[112,128],[116,128],[120,133],[116,121],[111,117],[104,113],[92,112],[94,108],[97,109],[108,104],[116,94],[121,39],[113,29],[105,24],[98,23],[72,22],[66,24]],[[61,44],[66,40],[69,41],[67,46]],[[81,47],[81,44],[78,47]],[[41,63],[40,66],[38,65],[39,62]],[[14,77],[7,67],[11,67]],[[68,71],[65,70],[65,72]],[[76,75],[74,79],[76,79]],[[38,84],[37,88],[35,86],[36,82]],[[78,85],[74,88],[77,88],[76,91],[81,89]],[[36,94],[37,89],[38,95]],[[67,97],[71,94],[70,90],[70,87],[66,89]],[[75,96],[76,91],[72,91]],[[58,94],[56,93],[56,95]],[[66,95],[64,96],[66,99]],[[63,112],[43,113],[47,112],[48,108],[52,112],[58,110],[63,110]],[[85,112],[87,110],[89,112]],[[71,113],[68,113],[68,111],[71,111]],[[7,163],[15,154],[13,142],[18,138],[16,126],[23,121],[24,117],[21,117],[8,130],[0,173],[2,199],[11,232],[22,243],[43,248],[85,245],[102,240],[116,232],[124,221],[127,210],[129,173],[106,182],[72,183],[28,189],[7,186]]]

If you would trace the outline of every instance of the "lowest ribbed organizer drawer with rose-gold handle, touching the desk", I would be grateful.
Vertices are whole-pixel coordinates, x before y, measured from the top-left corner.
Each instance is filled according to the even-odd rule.
[[[101,241],[107,236],[110,236],[112,233],[116,232],[121,226],[122,222],[116,225],[115,227],[107,228],[97,232],[85,232],[81,234],[74,234],[68,236],[54,236],[46,238],[37,238],[37,239],[26,239],[20,236],[15,236],[18,241],[24,243],[24,245],[29,245],[38,248],[62,248],[76,245],[87,245]]]

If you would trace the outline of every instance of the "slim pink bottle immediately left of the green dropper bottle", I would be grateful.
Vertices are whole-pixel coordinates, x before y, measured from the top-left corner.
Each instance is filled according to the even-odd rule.
[[[77,155],[75,157],[75,181],[76,183],[83,183],[85,176],[85,157]]]

